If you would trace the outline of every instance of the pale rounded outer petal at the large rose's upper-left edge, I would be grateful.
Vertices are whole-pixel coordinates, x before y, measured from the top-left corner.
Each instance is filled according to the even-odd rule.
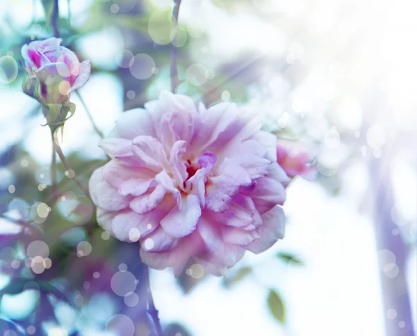
[[[145,109],[133,109],[120,115],[116,122],[117,133],[129,140],[136,136],[155,137],[154,121]]]

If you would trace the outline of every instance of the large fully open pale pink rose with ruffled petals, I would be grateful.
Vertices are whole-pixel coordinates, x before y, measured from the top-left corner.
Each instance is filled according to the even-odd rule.
[[[290,179],[276,137],[260,129],[236,104],[206,109],[167,92],[122,113],[100,143],[111,161],[90,179],[97,222],[175,275],[191,257],[224,274],[245,250],[267,250],[284,236]]]

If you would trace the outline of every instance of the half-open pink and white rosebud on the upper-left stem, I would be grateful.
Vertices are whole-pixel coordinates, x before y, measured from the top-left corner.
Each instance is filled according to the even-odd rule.
[[[90,79],[90,61],[79,62],[76,54],[60,46],[60,38],[33,41],[22,47],[26,78],[24,93],[43,104],[65,104],[70,93]]]

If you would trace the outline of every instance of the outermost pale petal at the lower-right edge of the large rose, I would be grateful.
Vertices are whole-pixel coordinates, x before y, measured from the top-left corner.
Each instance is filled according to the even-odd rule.
[[[284,238],[285,216],[281,207],[276,206],[262,215],[262,225],[256,229],[259,239],[246,247],[253,253],[262,253],[274,245],[278,239]]]

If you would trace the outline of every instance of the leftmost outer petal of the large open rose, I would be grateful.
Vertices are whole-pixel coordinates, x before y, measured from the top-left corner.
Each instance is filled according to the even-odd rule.
[[[90,178],[89,189],[92,202],[104,211],[120,211],[129,207],[132,198],[119,195],[113,186],[104,181],[101,169],[96,169]]]

